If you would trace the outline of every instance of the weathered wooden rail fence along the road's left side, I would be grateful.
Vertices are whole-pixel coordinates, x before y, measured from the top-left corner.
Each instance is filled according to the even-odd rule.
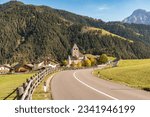
[[[43,81],[44,77],[48,74],[53,73],[58,70],[57,68],[46,68],[42,71],[39,71],[37,74],[27,79],[22,86],[18,87],[16,90],[17,100],[32,100],[32,94],[36,87]]]

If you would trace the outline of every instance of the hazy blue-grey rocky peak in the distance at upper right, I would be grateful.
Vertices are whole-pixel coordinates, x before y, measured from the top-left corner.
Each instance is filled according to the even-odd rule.
[[[132,15],[125,18],[123,22],[150,25],[150,12],[143,9],[135,10]]]

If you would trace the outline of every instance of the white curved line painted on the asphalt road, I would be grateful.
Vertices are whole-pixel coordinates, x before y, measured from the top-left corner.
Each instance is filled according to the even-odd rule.
[[[105,95],[105,96],[107,96],[107,97],[109,97],[109,98],[111,98],[111,99],[113,99],[113,100],[119,100],[119,99],[117,99],[117,98],[115,98],[115,97],[113,97],[113,96],[110,96],[110,95],[108,95],[108,94],[106,94],[106,93],[104,93],[104,92],[102,92],[102,91],[99,91],[99,90],[97,90],[97,89],[95,89],[95,88],[89,86],[88,84],[84,83],[83,81],[79,80],[79,78],[76,76],[76,72],[73,73],[73,76],[74,76],[74,78],[75,78],[77,81],[79,81],[81,84],[83,84],[83,85],[87,86],[88,88],[90,88],[90,89],[96,91],[97,93],[100,93],[100,94],[102,94],[102,95]]]

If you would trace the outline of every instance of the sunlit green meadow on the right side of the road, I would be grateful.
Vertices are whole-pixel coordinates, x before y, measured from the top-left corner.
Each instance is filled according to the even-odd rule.
[[[118,67],[107,68],[98,72],[104,79],[121,82],[131,87],[150,89],[150,59],[121,60]]]

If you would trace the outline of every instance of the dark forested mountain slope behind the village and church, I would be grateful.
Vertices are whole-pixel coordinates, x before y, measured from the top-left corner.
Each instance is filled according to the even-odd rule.
[[[149,29],[11,1],[0,5],[0,64],[46,57],[61,61],[74,43],[84,53],[149,58]]]

